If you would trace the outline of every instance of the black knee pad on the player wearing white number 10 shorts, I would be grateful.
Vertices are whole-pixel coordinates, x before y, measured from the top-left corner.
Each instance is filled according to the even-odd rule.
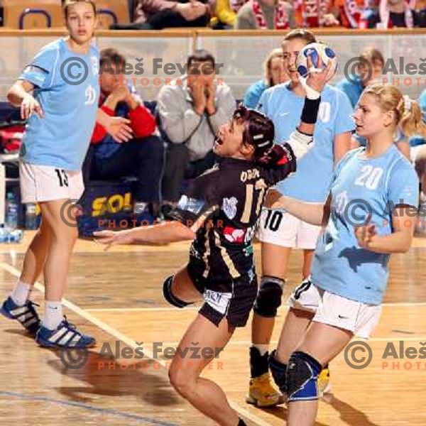
[[[284,280],[276,277],[264,276],[261,281],[254,312],[261,317],[273,318],[277,316],[278,307],[283,297]]]

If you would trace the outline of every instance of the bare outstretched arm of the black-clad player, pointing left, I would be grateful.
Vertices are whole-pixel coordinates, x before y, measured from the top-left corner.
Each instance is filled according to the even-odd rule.
[[[119,244],[135,243],[174,243],[192,240],[195,231],[178,221],[165,222],[152,226],[126,229],[125,231],[94,232],[95,241],[105,244],[105,250]]]

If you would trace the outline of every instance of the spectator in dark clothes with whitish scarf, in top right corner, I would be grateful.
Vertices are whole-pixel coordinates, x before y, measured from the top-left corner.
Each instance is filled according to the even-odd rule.
[[[425,27],[424,14],[414,9],[414,3],[405,0],[381,0],[378,13],[371,17],[373,27],[377,28],[414,28]]]

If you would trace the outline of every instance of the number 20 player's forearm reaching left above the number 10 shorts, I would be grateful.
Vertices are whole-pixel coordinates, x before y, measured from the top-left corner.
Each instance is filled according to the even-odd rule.
[[[325,204],[317,204],[287,197],[276,190],[269,190],[264,206],[268,209],[285,209],[303,222],[325,226],[329,219],[330,203],[330,196]]]

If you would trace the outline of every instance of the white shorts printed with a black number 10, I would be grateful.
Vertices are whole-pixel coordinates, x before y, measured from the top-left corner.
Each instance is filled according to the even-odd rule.
[[[283,209],[262,209],[258,227],[258,239],[262,243],[313,250],[320,232],[321,226],[302,222]]]

